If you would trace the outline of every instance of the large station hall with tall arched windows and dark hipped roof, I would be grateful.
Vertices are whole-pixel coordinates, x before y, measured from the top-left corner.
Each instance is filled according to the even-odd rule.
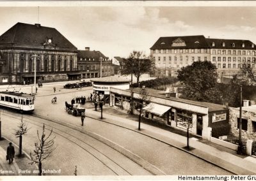
[[[77,48],[40,24],[17,23],[0,36],[0,83],[54,82],[77,78]]]

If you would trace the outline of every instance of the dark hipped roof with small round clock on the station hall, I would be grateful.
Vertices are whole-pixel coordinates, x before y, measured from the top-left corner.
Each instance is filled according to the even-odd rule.
[[[51,43],[47,43],[48,39],[52,40]],[[20,22],[13,25],[13,27],[0,36],[0,47],[77,50],[77,48],[55,28],[44,27],[40,24],[33,25]]]

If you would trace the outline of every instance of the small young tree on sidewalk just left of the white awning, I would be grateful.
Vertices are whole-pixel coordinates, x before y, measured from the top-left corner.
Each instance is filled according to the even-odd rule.
[[[141,113],[145,106],[147,106],[150,103],[151,96],[148,95],[147,89],[145,89],[145,86],[143,86],[140,89],[140,99],[138,103],[136,103],[136,109],[139,111],[139,126],[138,129],[140,130],[140,122],[141,122]],[[148,108],[147,110],[150,110],[152,108]]]

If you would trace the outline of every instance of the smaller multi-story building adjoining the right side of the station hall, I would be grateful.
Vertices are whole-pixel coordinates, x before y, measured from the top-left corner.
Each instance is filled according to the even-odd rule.
[[[90,51],[90,47],[85,47],[85,50],[78,50],[77,59],[77,68],[81,73],[81,78],[115,75],[112,60],[99,51]],[[101,71],[100,66],[102,67]]]

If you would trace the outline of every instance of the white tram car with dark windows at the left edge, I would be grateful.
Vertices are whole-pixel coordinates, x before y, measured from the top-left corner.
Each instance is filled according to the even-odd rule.
[[[33,112],[34,96],[22,92],[0,92],[0,106],[12,108],[20,112]]]

